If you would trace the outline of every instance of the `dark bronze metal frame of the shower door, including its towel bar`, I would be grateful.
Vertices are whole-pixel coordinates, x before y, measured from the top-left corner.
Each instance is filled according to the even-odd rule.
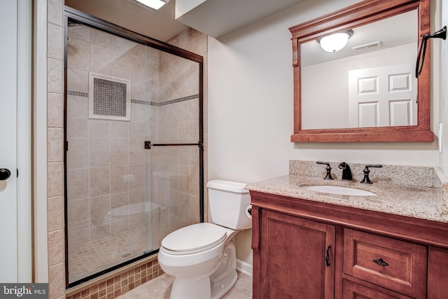
[[[157,50],[161,50],[165,53],[169,53],[172,55],[176,55],[187,60],[191,60],[193,62],[197,62],[199,67],[199,140],[197,143],[188,143],[188,144],[151,144],[148,143],[149,149],[151,146],[198,146],[199,148],[199,167],[200,167],[200,222],[204,222],[204,97],[203,97],[203,89],[204,89],[204,57],[201,55],[197,55],[188,50],[184,50],[182,48],[172,46],[169,43],[164,43],[162,41],[158,41],[157,39],[153,39],[148,36],[144,36],[143,34],[139,34],[137,32],[132,32],[130,29],[125,29],[118,25],[115,25],[111,22],[107,22],[96,18],[87,13],[83,13],[69,6],[64,6],[64,230],[65,230],[65,284],[66,288],[77,286],[78,284],[82,284],[83,282],[93,279],[95,277],[99,277],[102,274],[106,274],[107,272],[111,272],[125,265],[129,265],[130,263],[134,263],[137,260],[141,260],[142,258],[146,258],[155,253],[158,253],[159,249],[155,249],[154,251],[148,253],[142,253],[141,256],[136,258],[132,258],[131,260],[127,260],[124,263],[120,263],[118,265],[114,265],[109,267],[106,270],[102,270],[101,272],[97,272],[95,274],[91,274],[83,279],[79,279],[77,281],[73,281],[69,283],[69,251],[68,251],[68,225],[67,225],[67,182],[66,182],[66,152],[68,150],[68,142],[66,136],[66,86],[67,86],[67,40],[68,40],[68,24],[69,19],[75,22],[79,22],[82,25],[87,25],[94,29],[102,30],[103,32],[113,34],[116,36],[120,36],[123,39],[128,39],[130,41],[134,41],[136,43],[143,44],[144,46],[149,46],[151,48],[155,48]],[[145,142],[145,147],[146,147]]]

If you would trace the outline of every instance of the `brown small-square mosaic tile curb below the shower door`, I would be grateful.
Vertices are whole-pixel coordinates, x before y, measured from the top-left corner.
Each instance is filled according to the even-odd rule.
[[[92,279],[80,286],[69,288],[66,291],[66,299],[116,298],[162,274],[164,272],[160,268],[157,256],[153,256],[149,260],[139,261],[111,272],[107,277]]]

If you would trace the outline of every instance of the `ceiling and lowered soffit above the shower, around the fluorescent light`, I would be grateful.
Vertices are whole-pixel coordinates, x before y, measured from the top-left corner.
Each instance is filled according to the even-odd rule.
[[[192,0],[178,0],[192,1]],[[302,0],[200,0],[175,19],[176,0],[158,11],[133,0],[65,0],[65,5],[97,18],[167,41],[188,27],[218,38],[286,9]]]

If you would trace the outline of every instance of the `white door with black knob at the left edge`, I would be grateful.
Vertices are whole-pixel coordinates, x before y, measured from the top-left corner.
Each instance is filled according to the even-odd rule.
[[[0,32],[0,281],[7,283],[18,282],[17,0],[2,0]]]

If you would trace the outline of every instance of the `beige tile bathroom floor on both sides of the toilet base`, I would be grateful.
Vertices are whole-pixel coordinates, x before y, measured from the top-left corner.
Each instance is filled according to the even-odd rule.
[[[173,283],[173,277],[168,274],[132,289],[116,299],[169,299],[169,293]],[[238,272],[238,280],[235,286],[226,293],[222,299],[251,299],[252,277]]]

